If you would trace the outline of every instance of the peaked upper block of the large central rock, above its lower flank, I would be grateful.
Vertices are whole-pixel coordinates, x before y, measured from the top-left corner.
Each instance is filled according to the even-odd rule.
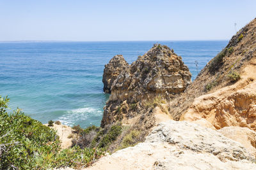
[[[128,103],[154,94],[179,94],[191,83],[191,73],[168,46],[155,45],[139,56],[113,83],[110,101]]]

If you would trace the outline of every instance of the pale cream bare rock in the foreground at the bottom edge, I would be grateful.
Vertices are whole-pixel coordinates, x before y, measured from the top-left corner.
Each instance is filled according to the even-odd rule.
[[[188,122],[159,124],[144,143],[103,157],[88,169],[256,169],[254,159],[220,132]]]

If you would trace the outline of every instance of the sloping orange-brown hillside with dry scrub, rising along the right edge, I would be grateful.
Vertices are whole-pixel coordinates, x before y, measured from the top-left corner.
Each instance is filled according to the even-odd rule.
[[[187,114],[201,115],[201,118],[207,118],[207,120],[212,121],[212,118],[217,115],[224,115],[225,120],[220,120],[221,125],[217,125],[218,128],[225,127],[227,125],[238,125],[235,124],[237,121],[236,118],[240,119],[238,122],[246,122],[252,124],[252,120],[255,118],[252,114],[248,118],[243,118],[246,116],[246,111],[248,108],[253,106],[255,103],[252,93],[248,90],[248,94],[237,94],[237,90],[247,89],[253,86],[256,76],[255,74],[255,58],[256,58],[256,18],[247,24],[243,29],[237,32],[235,36],[230,39],[228,45],[218,54],[214,59],[212,59],[205,67],[200,71],[197,78],[193,83],[186,89],[184,94],[177,96],[175,99],[170,101],[170,113],[175,120],[180,120],[180,116]],[[236,76],[240,75],[240,80],[235,80]],[[234,83],[234,80],[237,81]],[[248,85],[248,86],[247,86]],[[224,88],[224,89],[223,89]],[[221,90],[223,89],[223,90]],[[221,91],[218,96],[214,92]],[[228,92],[227,92],[228,91]],[[228,93],[230,97],[228,97]],[[205,96],[203,97],[202,95]],[[222,96],[222,94],[225,94]],[[242,95],[242,96],[241,96]],[[245,95],[245,96],[244,96]],[[236,97],[237,96],[237,97]],[[232,103],[243,97],[244,102],[245,98],[248,96],[249,103],[247,107],[243,108],[243,116],[239,116],[242,112],[239,111],[241,106],[235,106]],[[196,97],[198,97],[196,99]],[[232,98],[232,99],[231,99]],[[249,99],[250,98],[250,99]],[[223,106],[223,102],[227,104],[227,101],[231,102],[230,106]],[[200,101],[199,101],[200,100]],[[195,102],[195,103],[194,103]],[[238,101],[237,101],[238,102]],[[235,103],[237,103],[235,102]],[[240,103],[243,101],[239,101]],[[223,104],[221,104],[223,103]],[[221,105],[217,107],[217,105]],[[238,104],[238,103],[237,103]],[[201,106],[202,107],[201,107]],[[197,107],[198,106],[198,107]],[[218,109],[220,108],[220,109]],[[222,108],[222,109],[221,109]],[[188,111],[188,109],[190,111]],[[215,110],[217,109],[217,110]],[[223,110],[224,109],[224,110]],[[227,109],[229,111],[227,111]],[[193,111],[192,111],[193,110]],[[219,111],[218,111],[219,110]],[[232,111],[233,110],[233,111]],[[195,114],[194,114],[195,113]],[[230,114],[232,124],[230,122],[227,114]],[[244,115],[245,114],[245,115]],[[210,116],[211,115],[211,116]],[[226,115],[226,116],[225,116]],[[182,116],[183,117],[183,116]],[[211,117],[211,118],[210,118]],[[223,117],[219,117],[223,119]],[[218,119],[219,119],[218,118]],[[195,118],[198,119],[198,118]],[[243,119],[243,120],[241,120]],[[183,120],[183,118],[182,118]],[[233,121],[236,120],[236,121]],[[224,122],[227,122],[225,125]],[[244,122],[244,123],[245,123]],[[239,125],[243,126],[241,123]],[[244,124],[245,125],[245,124]],[[253,124],[252,124],[253,125]],[[254,126],[254,125],[253,125]],[[247,125],[246,125],[247,127]],[[250,125],[248,125],[250,127]]]

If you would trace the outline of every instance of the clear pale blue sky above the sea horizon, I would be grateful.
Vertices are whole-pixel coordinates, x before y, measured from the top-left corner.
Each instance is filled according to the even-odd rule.
[[[0,41],[230,39],[256,0],[0,0]]]

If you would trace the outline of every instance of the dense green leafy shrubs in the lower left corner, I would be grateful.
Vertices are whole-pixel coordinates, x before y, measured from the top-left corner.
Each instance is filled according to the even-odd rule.
[[[78,146],[61,150],[56,131],[19,109],[8,113],[9,99],[0,96],[1,169],[52,169],[88,166],[104,152]]]

